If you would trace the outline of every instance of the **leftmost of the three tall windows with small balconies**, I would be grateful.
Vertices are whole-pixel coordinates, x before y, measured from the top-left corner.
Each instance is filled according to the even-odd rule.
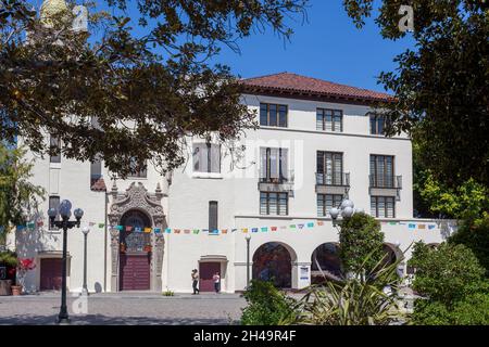
[[[288,180],[287,149],[260,149],[260,181],[280,183]]]

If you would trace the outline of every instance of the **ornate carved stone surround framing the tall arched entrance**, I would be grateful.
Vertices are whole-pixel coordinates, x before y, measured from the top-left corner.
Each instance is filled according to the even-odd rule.
[[[145,224],[150,224],[151,228],[160,228],[161,233],[151,232],[151,261],[150,261],[150,288],[153,292],[162,291],[162,266],[163,266],[163,250],[164,250],[164,237],[163,230],[166,228],[165,215],[161,205],[163,193],[158,185],[154,194],[148,193],[142,183],[131,183],[130,187],[124,192],[120,193],[117,187],[112,187],[111,190],[112,204],[109,214],[109,222],[111,226],[120,226],[123,223],[129,223],[130,221],[137,222],[135,219],[137,215],[142,216],[143,220],[139,221]],[[133,217],[134,218],[133,218]],[[137,226],[135,226],[137,227]],[[121,291],[120,283],[120,266],[121,266],[121,232],[111,228],[111,288],[114,292]]]

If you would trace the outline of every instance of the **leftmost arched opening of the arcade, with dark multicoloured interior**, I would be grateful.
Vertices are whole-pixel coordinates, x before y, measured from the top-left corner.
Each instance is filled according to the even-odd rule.
[[[256,249],[253,280],[273,281],[278,288],[292,287],[292,256],[285,245],[268,242]]]

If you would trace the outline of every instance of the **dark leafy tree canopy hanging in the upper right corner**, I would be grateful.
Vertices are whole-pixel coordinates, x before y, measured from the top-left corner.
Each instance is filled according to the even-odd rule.
[[[362,27],[373,0],[343,0]],[[394,59],[394,72],[379,76],[397,102],[386,107],[388,134],[408,131],[422,147],[421,159],[435,179],[456,187],[473,178],[489,185],[489,11],[479,0],[384,0],[376,23],[381,35],[399,39],[411,5],[414,49]]]

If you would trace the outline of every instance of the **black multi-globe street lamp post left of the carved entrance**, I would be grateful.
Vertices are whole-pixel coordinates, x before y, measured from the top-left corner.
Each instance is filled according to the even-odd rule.
[[[58,214],[61,216],[61,220],[55,220]],[[70,220],[72,216],[72,203],[67,200],[63,200],[60,204],[59,209],[50,208],[48,210],[49,223],[51,228],[63,229],[63,261],[61,268],[61,307],[60,313],[58,314],[58,323],[59,324],[68,324],[70,317],[67,313],[66,306],[66,258],[67,258],[67,230],[74,227],[79,228],[79,222],[82,217],[84,216],[84,210],[82,208],[77,208],[73,213],[75,215],[76,220]]]

